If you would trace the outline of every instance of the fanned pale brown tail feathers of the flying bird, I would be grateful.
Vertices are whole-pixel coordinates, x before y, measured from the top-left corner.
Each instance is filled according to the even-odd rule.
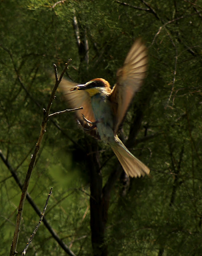
[[[110,146],[128,176],[136,178],[149,174],[149,168],[133,156],[118,137],[116,143],[110,143]]]

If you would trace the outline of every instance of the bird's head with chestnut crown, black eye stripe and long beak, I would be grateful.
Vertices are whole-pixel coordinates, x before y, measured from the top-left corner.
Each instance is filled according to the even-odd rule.
[[[95,78],[90,80],[86,84],[79,84],[70,89],[70,91],[76,90],[86,90],[90,97],[100,92],[105,92],[107,94],[110,94],[111,92],[110,84],[103,78]]]

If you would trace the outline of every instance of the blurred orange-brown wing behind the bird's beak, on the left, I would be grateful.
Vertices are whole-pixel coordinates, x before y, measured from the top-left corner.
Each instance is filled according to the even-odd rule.
[[[83,128],[89,129],[89,124],[83,119],[82,114],[84,114],[85,118],[91,122],[95,122],[94,113],[91,106],[91,100],[89,94],[85,90],[77,90],[77,91],[70,91],[71,88],[78,85],[75,82],[71,82],[65,78],[63,78],[60,82],[60,89],[64,94],[65,100],[67,100],[69,106],[71,108],[79,108],[83,107],[82,110],[76,110],[76,117]],[[99,138],[97,134],[97,128],[89,130],[90,135]]]

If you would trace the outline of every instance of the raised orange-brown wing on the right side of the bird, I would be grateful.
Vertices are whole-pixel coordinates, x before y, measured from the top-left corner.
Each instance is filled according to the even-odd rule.
[[[145,78],[147,70],[147,48],[140,39],[131,47],[127,54],[124,66],[117,71],[117,83],[115,84],[110,99],[116,119],[114,134],[126,115],[127,108]]]

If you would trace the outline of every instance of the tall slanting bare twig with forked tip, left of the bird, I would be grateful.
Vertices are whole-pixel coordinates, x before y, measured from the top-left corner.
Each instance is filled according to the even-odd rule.
[[[18,244],[18,237],[19,237],[19,234],[20,234],[20,223],[21,223],[21,219],[22,219],[22,213],[23,213],[25,198],[26,198],[26,195],[27,195],[27,189],[28,189],[28,186],[29,186],[29,180],[31,178],[31,173],[32,173],[32,170],[35,166],[36,157],[37,157],[37,154],[38,154],[39,149],[41,147],[43,136],[45,134],[46,125],[47,125],[47,122],[48,122],[48,119],[49,119],[49,112],[50,112],[50,109],[51,109],[53,99],[55,97],[55,92],[56,92],[56,90],[59,86],[59,83],[62,80],[63,74],[65,73],[65,71],[68,68],[68,64],[69,64],[70,61],[71,60],[68,60],[68,62],[65,64],[65,68],[63,69],[63,72],[62,72],[59,80],[58,79],[55,80],[55,86],[53,87],[53,91],[52,91],[51,96],[49,98],[47,108],[46,108],[46,110],[44,110],[44,116],[43,116],[43,120],[42,120],[42,123],[41,123],[41,131],[40,131],[40,134],[39,134],[37,144],[35,146],[34,153],[31,156],[31,160],[29,162],[29,167],[28,167],[28,170],[27,170],[25,181],[24,181],[24,184],[23,184],[23,187],[22,187],[22,194],[21,194],[20,204],[18,206],[18,214],[17,214],[17,218],[16,218],[16,228],[15,228],[15,231],[14,231],[14,238],[13,238],[11,248],[10,248],[10,256],[14,256],[17,253],[16,248],[17,248],[17,244]],[[57,67],[56,67],[55,64],[54,64],[54,70],[55,70],[55,73],[57,74]]]

